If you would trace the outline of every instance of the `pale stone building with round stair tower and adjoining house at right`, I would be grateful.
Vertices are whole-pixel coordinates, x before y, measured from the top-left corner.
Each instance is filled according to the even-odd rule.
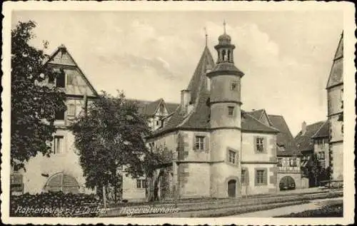
[[[241,110],[244,74],[234,65],[231,37],[224,32],[215,48],[216,63],[205,46],[191,81],[181,91],[180,106],[148,138],[174,156],[171,165],[158,169],[154,178],[161,197],[276,192],[278,175],[293,175],[297,187],[305,186],[298,169],[286,168],[287,173],[277,167],[277,150],[286,148],[286,156],[294,157],[299,168],[294,140],[283,117],[268,116],[265,111],[258,117],[256,112]],[[278,129],[281,125],[283,133]]]

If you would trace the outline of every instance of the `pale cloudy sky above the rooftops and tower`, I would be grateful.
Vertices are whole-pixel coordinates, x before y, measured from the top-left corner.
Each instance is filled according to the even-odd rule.
[[[295,136],[326,120],[326,83],[343,30],[342,11],[14,11],[35,21],[31,45],[62,43],[96,91],[180,102],[205,46],[216,60],[223,20],[241,81],[242,109],[283,115]]]

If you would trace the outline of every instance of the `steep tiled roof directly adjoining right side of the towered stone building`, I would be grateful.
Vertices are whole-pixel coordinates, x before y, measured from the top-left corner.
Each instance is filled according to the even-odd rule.
[[[276,135],[276,143],[283,146],[285,150],[277,150],[276,155],[278,156],[291,156],[291,155],[301,155],[296,146],[293,135],[291,134],[288,124],[282,115],[268,115],[269,120],[275,128],[280,130],[280,133]]]

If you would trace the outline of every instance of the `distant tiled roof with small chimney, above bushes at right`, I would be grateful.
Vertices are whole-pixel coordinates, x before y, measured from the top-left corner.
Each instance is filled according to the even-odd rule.
[[[308,151],[313,150],[313,140],[312,136],[318,131],[319,128],[325,123],[325,121],[320,121],[317,123],[313,123],[311,125],[306,125],[306,133],[302,133],[301,131],[296,135],[295,142],[298,150]]]

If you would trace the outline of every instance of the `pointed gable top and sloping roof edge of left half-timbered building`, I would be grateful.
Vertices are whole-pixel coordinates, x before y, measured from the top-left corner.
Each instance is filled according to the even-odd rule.
[[[84,79],[86,82],[86,85],[89,86],[91,91],[93,92],[94,96],[98,96],[98,93],[96,92],[96,89],[91,85],[89,82],[88,78],[84,75],[83,71],[81,71],[81,68],[79,68],[78,64],[76,61],[74,61],[74,58],[71,56],[71,53],[69,53],[68,49],[64,44],[61,44],[61,46],[57,47],[57,49],[51,53],[51,55],[46,58],[43,62],[43,65],[46,66],[72,66],[78,69],[79,73],[81,74],[81,77]]]

